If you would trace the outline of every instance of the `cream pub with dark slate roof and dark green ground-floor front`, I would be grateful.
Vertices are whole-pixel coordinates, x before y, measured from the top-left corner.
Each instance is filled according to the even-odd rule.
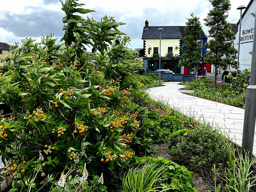
[[[145,21],[142,37],[143,49],[140,49],[140,55],[144,58],[144,67],[151,71],[159,69],[160,54],[160,31],[161,30],[161,69],[169,69],[174,73],[184,73],[184,67],[178,67],[181,58],[181,46],[184,44],[182,38],[186,36],[184,29],[186,26],[148,26],[148,20]],[[203,40],[207,41],[207,36],[202,32],[198,40],[203,45]],[[203,48],[203,47],[202,47]],[[202,50],[203,54],[203,50]]]

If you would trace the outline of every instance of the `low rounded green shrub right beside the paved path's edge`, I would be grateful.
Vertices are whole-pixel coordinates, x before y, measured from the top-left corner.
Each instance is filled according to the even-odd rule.
[[[173,132],[168,150],[175,160],[197,172],[211,169],[213,164],[221,165],[230,151],[227,139],[211,127]]]

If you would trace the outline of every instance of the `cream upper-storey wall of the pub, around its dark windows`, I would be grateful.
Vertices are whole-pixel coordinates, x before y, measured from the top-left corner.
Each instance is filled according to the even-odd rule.
[[[154,52],[154,47],[158,47],[158,53],[160,52],[160,41],[159,39],[143,39],[145,44],[145,56],[152,57]],[[178,49],[175,47],[178,46]],[[148,48],[151,47],[150,54],[148,54]],[[179,55],[180,52],[180,39],[161,39],[161,57],[165,57],[168,53],[168,47],[172,47],[173,56]]]

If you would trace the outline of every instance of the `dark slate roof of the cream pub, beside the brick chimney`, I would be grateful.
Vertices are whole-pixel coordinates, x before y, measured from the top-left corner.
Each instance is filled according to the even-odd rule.
[[[163,28],[161,31],[161,39],[182,39],[186,36],[184,28],[186,26],[148,26],[143,28],[141,39],[159,39],[158,28]],[[207,39],[207,36],[202,32],[202,39]]]

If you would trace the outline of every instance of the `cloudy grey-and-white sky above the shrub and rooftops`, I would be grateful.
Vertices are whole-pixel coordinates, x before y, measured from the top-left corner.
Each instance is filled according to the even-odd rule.
[[[208,28],[204,26],[204,18],[212,9],[207,0],[80,0],[86,4],[84,8],[96,12],[88,14],[89,18],[100,20],[104,15],[115,16],[116,21],[124,22],[119,30],[132,38],[130,48],[142,48],[142,29],[145,20],[149,26],[184,26],[186,18],[194,12],[200,17],[201,25],[206,35],[209,35]],[[247,6],[250,0],[230,0],[231,10],[229,11],[228,22],[237,23],[240,11],[236,8],[244,4]],[[54,33],[60,41],[62,32],[62,17],[59,0],[1,0],[0,11],[0,42],[14,44],[25,37],[33,37],[40,40],[42,34]],[[86,15],[87,17],[87,15]]]

